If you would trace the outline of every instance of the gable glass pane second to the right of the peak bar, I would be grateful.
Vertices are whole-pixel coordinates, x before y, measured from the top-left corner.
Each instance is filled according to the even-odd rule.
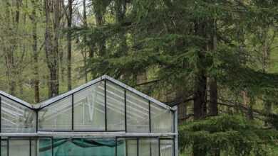
[[[149,132],[149,102],[137,94],[126,92],[128,132]]]

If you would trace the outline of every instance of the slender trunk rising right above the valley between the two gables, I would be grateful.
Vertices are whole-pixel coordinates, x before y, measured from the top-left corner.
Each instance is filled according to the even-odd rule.
[[[37,27],[38,27],[38,22],[37,22],[37,16],[36,16],[36,9],[38,5],[38,0],[32,0],[32,6],[33,6],[33,11],[32,11],[32,16],[31,16],[31,21],[32,21],[32,36],[33,36],[33,64],[34,64],[34,102],[38,103],[40,101],[40,91],[39,91],[39,74],[38,74],[38,36],[37,36]]]

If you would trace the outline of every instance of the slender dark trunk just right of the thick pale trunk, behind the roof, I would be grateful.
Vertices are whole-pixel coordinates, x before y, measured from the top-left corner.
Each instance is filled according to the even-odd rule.
[[[67,74],[68,74],[68,91],[71,90],[71,24],[72,24],[72,14],[73,14],[73,0],[68,0],[68,55],[67,55]]]

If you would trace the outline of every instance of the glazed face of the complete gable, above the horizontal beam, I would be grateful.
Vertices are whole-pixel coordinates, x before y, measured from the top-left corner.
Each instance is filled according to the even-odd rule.
[[[173,133],[174,113],[105,80],[41,108],[38,130]]]

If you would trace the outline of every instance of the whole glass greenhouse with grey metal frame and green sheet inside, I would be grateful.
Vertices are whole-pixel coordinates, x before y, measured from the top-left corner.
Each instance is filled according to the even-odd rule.
[[[0,91],[1,156],[177,156],[177,108],[104,75],[29,104]]]

